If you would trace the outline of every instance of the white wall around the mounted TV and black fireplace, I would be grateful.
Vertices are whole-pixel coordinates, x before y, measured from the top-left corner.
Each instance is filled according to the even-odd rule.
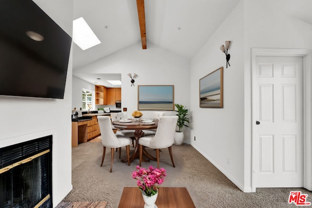
[[[73,0],[34,0],[59,26],[72,34]],[[71,103],[72,55],[64,99],[0,96],[0,147],[30,140],[30,136],[53,133],[53,205],[72,189]],[[34,139],[34,138],[33,138]]]

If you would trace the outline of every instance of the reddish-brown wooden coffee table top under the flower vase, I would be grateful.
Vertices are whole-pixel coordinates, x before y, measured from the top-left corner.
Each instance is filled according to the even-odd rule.
[[[156,200],[158,208],[195,208],[185,187],[160,187]],[[142,192],[137,187],[124,187],[118,208],[143,208]]]

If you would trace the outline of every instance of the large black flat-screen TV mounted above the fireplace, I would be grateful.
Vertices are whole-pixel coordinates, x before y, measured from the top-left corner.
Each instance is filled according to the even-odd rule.
[[[71,43],[32,0],[0,0],[0,95],[63,99]]]

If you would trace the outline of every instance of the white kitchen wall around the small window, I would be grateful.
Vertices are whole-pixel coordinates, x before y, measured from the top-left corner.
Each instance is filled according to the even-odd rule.
[[[82,108],[82,89],[95,91],[95,85],[73,76],[73,102],[72,110]],[[95,95],[94,95],[95,96]],[[95,98],[94,98],[95,99]],[[96,109],[97,110],[97,109]]]

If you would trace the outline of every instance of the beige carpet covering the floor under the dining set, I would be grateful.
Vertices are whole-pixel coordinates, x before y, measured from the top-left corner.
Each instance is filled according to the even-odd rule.
[[[131,174],[138,165],[138,159],[128,166],[120,162],[115,152],[113,172],[110,173],[111,151],[106,151],[103,167],[100,167],[102,150],[100,142],[83,143],[72,149],[73,190],[64,202],[107,201],[106,208],[117,208],[123,187],[136,187]],[[148,151],[154,154],[153,150]],[[122,158],[125,152],[123,148]],[[301,188],[258,188],[255,193],[244,193],[190,145],[174,145],[173,156],[176,168],[172,167],[168,149],[160,153],[160,167],[167,171],[162,186],[186,187],[196,208],[297,207],[288,203],[292,190],[308,194],[307,201],[312,201],[312,192]],[[143,167],[149,165],[157,166],[155,161],[142,163]]]

